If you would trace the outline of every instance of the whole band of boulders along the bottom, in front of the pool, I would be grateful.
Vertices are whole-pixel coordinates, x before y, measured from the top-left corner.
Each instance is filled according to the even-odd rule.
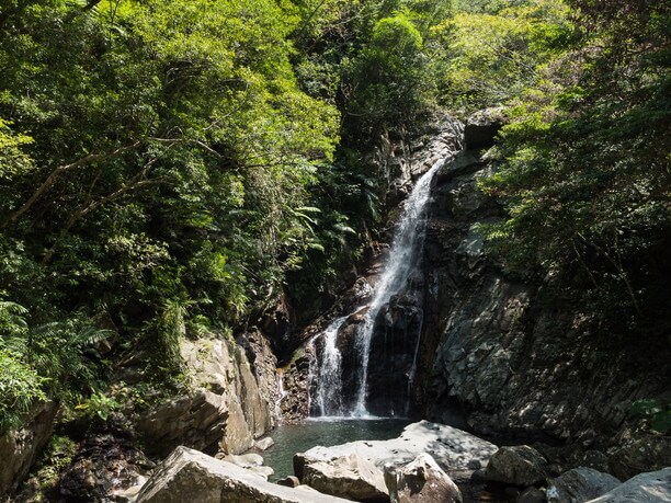
[[[592,468],[554,475],[531,446],[497,447],[467,432],[421,421],[388,441],[315,446],[294,458],[295,475],[266,481],[258,455],[217,459],[180,446],[137,495],[117,501],[328,503],[650,502],[671,500],[671,468],[625,482]],[[271,470],[272,471],[272,470]],[[486,492],[486,491],[493,491]],[[485,495],[484,495],[485,494]]]

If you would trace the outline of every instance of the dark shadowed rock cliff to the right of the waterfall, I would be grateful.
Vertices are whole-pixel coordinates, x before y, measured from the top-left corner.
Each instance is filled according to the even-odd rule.
[[[503,215],[476,187],[491,169],[466,151],[437,175],[414,392],[429,419],[450,423],[458,405],[477,433],[607,437],[634,400],[668,391],[668,348],[623,348],[580,306],[547,302],[551,278],[504,274],[476,230]]]

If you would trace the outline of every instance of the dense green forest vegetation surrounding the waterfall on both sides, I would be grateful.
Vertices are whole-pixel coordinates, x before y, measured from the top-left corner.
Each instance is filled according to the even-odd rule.
[[[508,117],[482,187],[511,270],[622,325],[669,309],[669,10],[5,1],[0,430],[34,400],[100,397],[125,351],[171,375],[181,336],[283,296],[309,319],[385,210],[367,155],[437,111]]]

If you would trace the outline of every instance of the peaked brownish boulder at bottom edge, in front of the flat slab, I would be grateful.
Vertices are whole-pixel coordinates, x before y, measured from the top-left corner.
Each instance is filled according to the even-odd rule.
[[[405,467],[385,467],[391,503],[462,503],[462,492],[428,454]]]

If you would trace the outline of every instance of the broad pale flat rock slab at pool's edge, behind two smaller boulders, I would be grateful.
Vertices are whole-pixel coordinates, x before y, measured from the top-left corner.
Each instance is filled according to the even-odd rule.
[[[359,441],[333,447],[312,447],[294,457],[294,470],[303,478],[306,460],[329,461],[331,459],[357,454],[383,469],[385,465],[402,466],[422,453],[430,454],[447,473],[471,471],[468,466],[478,461],[486,466],[498,447],[470,433],[444,424],[420,421],[406,426],[398,438],[389,441]]]

